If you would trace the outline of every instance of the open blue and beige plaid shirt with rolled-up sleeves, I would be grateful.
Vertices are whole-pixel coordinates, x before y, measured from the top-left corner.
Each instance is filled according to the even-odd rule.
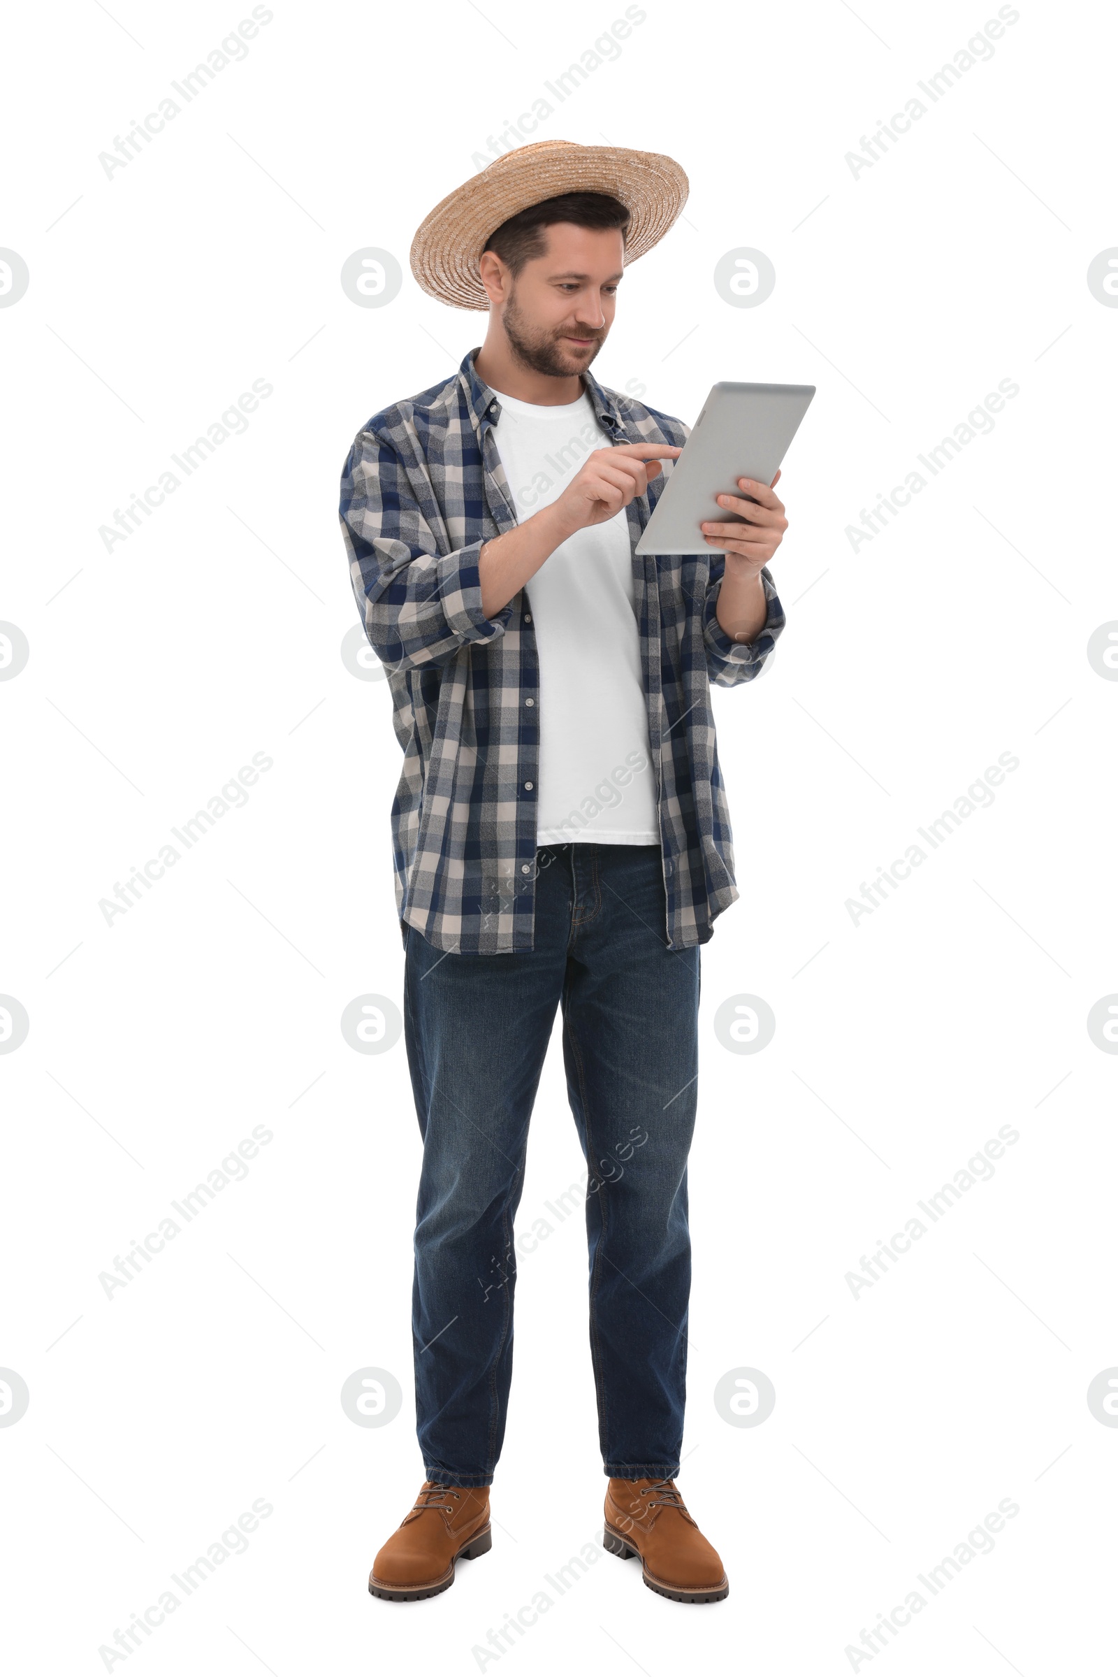
[[[481,609],[481,547],[518,520],[493,434],[499,397],[476,354],[372,416],[345,461],[340,518],[404,748],[392,803],[401,934],[407,922],[436,949],[499,954],[533,948],[540,661],[523,589],[493,617]],[[617,443],[687,439],[679,419],[583,381]],[[670,470],[629,503],[634,545]],[[714,550],[634,555],[670,949],[706,942],[738,899],[709,684],[753,681],[784,627],[764,569],[764,627],[731,641],[716,617],[724,567]]]

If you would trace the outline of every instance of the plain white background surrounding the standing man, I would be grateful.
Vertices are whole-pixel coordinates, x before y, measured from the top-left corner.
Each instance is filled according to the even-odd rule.
[[[1022,3],[855,178],[845,154],[996,7],[649,0],[531,136],[670,153],[691,178],[686,220],[625,277],[602,382],[687,421],[722,377],[818,396],[779,490],[788,629],[714,701],[741,901],[702,958],[681,1486],[731,1595],[692,1615],[602,1556],[493,1657],[489,1627],[602,1528],[585,1244],[577,1214],[521,1261],[491,1555],[437,1600],[372,1600],[422,1477],[419,1134],[402,1041],[359,1055],[339,1026],[355,996],[399,1001],[402,948],[399,746],[387,688],[340,656],[337,486],[369,414],[484,330],[414,285],[414,228],[624,8],[277,3],[106,178],[99,153],[248,7],[111,12],[25,7],[0,117],[0,245],[30,268],[0,309],[0,619],[30,644],[0,683],[0,991],[30,1018],[0,1057],[0,1363],[30,1390],[0,1429],[8,1664],[104,1670],[114,1630],[263,1498],[248,1551],[112,1670],[1095,1669],[1118,1432],[1086,1389],[1118,1363],[1118,1060],[1086,1015],[1118,989],[1118,684],[1086,642],[1118,617],[1118,312],[1086,268],[1118,243],[1113,18]],[[384,309],[339,282],[364,247],[404,268]],[[761,307],[714,288],[738,247],[774,263]],[[273,394],[246,433],[106,552],[99,527],[253,379]],[[996,429],[855,555],[846,525],[1001,379],[1019,394]],[[107,926],[99,901],[258,751],[248,803]],[[1006,751],[992,807],[855,926],[846,899]],[[712,1030],[741,993],[776,1015],[753,1057]],[[851,1296],[846,1273],[1006,1124],[996,1176]],[[253,1125],[273,1139],[246,1179],[107,1298],[99,1275]],[[556,1041],[520,1226],[580,1167]],[[389,1425],[342,1410],[364,1367],[404,1389]],[[714,1407],[741,1367],[776,1389],[759,1427]],[[862,1627],[1006,1498],[994,1551],[857,1664]]]

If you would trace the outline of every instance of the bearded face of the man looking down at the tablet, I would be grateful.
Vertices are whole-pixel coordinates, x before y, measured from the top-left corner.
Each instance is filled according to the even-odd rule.
[[[585,372],[613,325],[624,267],[620,228],[543,228],[548,247],[520,270],[501,324],[513,354],[533,372]]]

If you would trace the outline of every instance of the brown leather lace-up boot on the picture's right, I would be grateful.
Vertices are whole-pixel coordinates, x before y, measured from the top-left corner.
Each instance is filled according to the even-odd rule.
[[[605,1548],[640,1556],[649,1590],[672,1602],[724,1602],[722,1563],[672,1479],[610,1479],[605,1493]]]

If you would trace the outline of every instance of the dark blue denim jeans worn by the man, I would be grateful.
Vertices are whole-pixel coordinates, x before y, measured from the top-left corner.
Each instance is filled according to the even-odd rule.
[[[679,1471],[699,949],[672,951],[659,845],[536,852],[535,949],[446,954],[406,931],[422,1174],[412,1337],[429,1479],[483,1486],[513,1372],[513,1216],[555,1008],[587,1182],[590,1355],[605,1472]],[[551,1196],[555,1197],[555,1196]],[[565,1196],[560,1196],[565,1197]],[[553,1441],[556,1461],[563,1442]]]

